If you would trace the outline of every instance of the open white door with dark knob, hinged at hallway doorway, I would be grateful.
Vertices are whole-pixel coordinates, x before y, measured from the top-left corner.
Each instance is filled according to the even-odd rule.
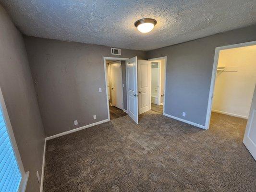
[[[126,60],[127,114],[138,124],[137,57]]]

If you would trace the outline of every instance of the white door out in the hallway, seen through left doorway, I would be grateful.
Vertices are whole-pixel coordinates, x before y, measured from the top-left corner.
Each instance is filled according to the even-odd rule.
[[[110,78],[112,105],[123,109],[121,61],[110,63]]]

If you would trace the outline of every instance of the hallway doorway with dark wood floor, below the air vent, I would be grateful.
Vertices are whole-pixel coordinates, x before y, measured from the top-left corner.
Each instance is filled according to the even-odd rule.
[[[109,120],[127,115],[125,60],[104,57]]]

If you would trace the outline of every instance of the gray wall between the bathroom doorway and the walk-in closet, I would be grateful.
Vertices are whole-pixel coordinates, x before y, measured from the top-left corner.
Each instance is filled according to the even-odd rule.
[[[148,51],[167,56],[165,113],[205,125],[215,48],[255,40],[256,25]]]

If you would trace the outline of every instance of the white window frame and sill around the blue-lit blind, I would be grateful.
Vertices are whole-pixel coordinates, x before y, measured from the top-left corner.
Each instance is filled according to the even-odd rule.
[[[0,87],[0,106],[2,108],[3,118],[4,118],[4,121],[6,124],[6,129],[7,129],[7,132],[9,134],[9,137],[11,140],[12,149],[14,151],[14,154],[15,154],[20,172],[21,172],[21,176],[22,176],[18,192],[25,192],[26,184],[27,184],[27,180],[28,180],[28,176],[29,176],[29,171],[27,171],[27,172],[24,171],[23,163],[22,163],[19,149],[18,149],[16,140],[15,140],[15,137],[14,137],[14,133],[12,131],[12,124],[11,124],[11,121],[10,121],[10,118],[8,115],[8,111],[7,111],[5,102],[4,102],[1,87]]]

